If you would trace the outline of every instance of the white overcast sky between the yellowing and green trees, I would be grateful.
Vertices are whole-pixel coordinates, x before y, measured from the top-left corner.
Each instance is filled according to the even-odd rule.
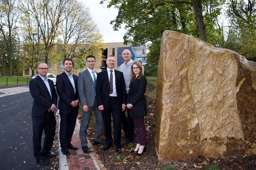
[[[123,42],[123,36],[125,29],[119,29],[119,31],[113,31],[113,25],[110,24],[111,20],[114,20],[118,14],[118,10],[114,7],[107,8],[107,4],[100,5],[101,0],[81,0],[86,7],[90,8],[90,13],[101,34],[103,35],[104,43],[108,42]]]

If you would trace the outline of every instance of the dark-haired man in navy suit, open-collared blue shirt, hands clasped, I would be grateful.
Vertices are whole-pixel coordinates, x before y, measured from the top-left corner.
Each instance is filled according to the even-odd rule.
[[[71,144],[71,138],[77,121],[79,95],[77,88],[78,77],[74,75],[71,70],[73,68],[73,61],[70,58],[65,58],[63,61],[64,72],[57,75],[56,89],[59,95],[59,142],[61,152],[64,155],[69,155],[67,148],[77,149]]]

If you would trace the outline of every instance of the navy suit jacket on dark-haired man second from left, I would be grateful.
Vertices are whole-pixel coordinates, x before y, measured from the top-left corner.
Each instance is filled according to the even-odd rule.
[[[78,77],[73,74],[73,79],[75,82],[76,93],[65,71],[57,75],[56,89],[59,95],[58,109],[72,109],[73,107],[70,105],[70,103],[77,99],[79,100],[77,88]],[[79,107],[79,105],[77,105],[76,107]]]

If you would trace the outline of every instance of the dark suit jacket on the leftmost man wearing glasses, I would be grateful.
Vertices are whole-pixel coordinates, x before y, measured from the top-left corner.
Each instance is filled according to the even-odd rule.
[[[57,93],[53,84],[53,81],[48,79],[51,95],[46,87],[44,81],[40,76],[30,80],[29,91],[34,101],[32,106],[32,116],[45,117],[52,111],[48,110],[52,104],[57,106]],[[52,98],[51,98],[52,97]]]

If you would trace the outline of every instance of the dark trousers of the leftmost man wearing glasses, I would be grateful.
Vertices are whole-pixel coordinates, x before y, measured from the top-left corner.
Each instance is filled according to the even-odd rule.
[[[56,120],[54,112],[45,117],[32,116],[33,121],[33,152],[36,160],[44,159],[44,154],[49,152],[53,145],[55,136]],[[44,145],[41,146],[41,139],[44,130]]]

